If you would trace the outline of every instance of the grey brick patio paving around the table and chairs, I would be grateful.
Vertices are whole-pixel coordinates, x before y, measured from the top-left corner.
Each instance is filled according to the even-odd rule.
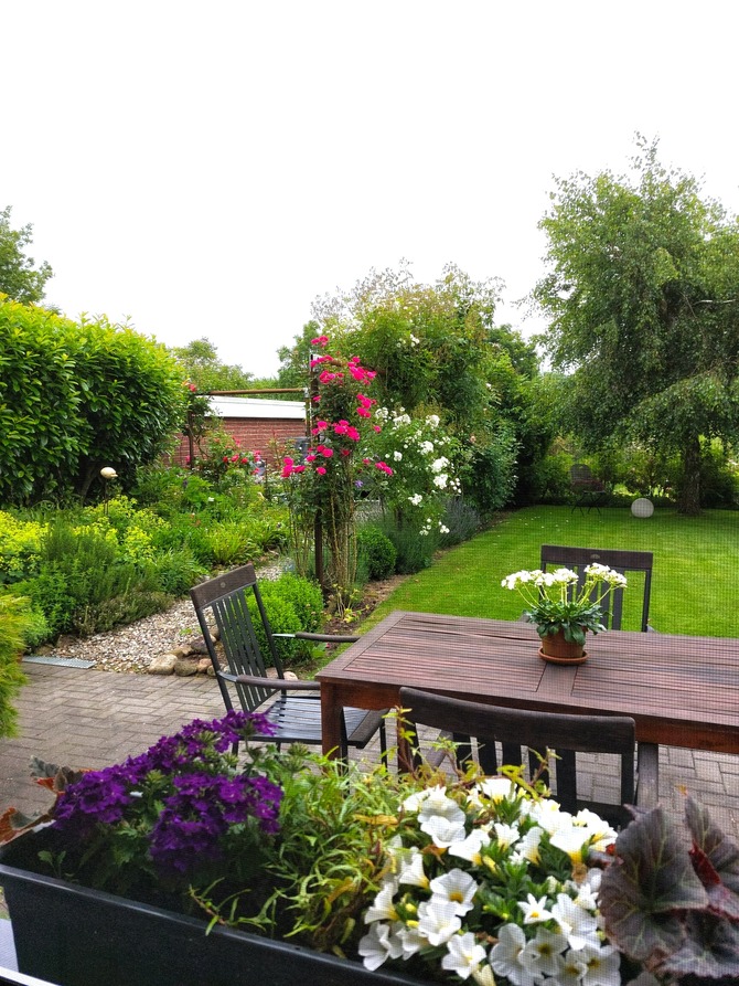
[[[23,669],[29,683],[15,702],[20,733],[0,740],[0,809],[12,805],[32,813],[47,806],[47,794],[30,776],[32,756],[72,767],[103,767],[142,752],[191,719],[224,711],[212,678],[28,662]],[[388,740],[393,742],[392,735]],[[376,741],[358,754],[377,755]],[[581,781],[585,796],[601,801],[618,787],[617,770],[608,760],[586,764]],[[739,756],[662,748],[660,797],[665,808],[682,814],[683,787],[706,805],[727,835],[739,839]]]

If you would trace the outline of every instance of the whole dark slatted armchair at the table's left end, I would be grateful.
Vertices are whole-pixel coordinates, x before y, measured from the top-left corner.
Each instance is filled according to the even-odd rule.
[[[244,711],[264,712],[276,727],[274,735],[257,735],[257,740],[271,740],[281,743],[321,743],[321,697],[318,681],[288,680],[275,639],[265,604],[257,584],[254,565],[242,565],[225,575],[218,575],[190,590],[197,614],[197,622],[207,653],[213,662],[226,709],[234,708],[233,692]],[[253,601],[249,605],[249,601]],[[211,633],[210,622],[218,628],[227,670],[221,666],[216,643]],[[268,657],[276,677],[268,677],[265,656],[259,647],[256,625],[264,628],[269,648]],[[330,634],[279,634],[301,640],[352,643],[355,636]],[[277,698],[275,698],[275,693]],[[270,701],[271,700],[271,701]],[[382,712],[366,709],[344,709],[342,748],[340,754],[346,757],[349,748],[363,750],[379,731],[379,745],[386,754],[385,720]]]

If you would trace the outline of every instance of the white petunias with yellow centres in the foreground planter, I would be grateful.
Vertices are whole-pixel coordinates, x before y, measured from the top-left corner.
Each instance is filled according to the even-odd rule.
[[[601,818],[572,817],[505,777],[437,785],[403,807],[364,915],[367,968],[418,957],[482,986],[621,982],[598,914],[601,872],[587,867],[615,839]]]

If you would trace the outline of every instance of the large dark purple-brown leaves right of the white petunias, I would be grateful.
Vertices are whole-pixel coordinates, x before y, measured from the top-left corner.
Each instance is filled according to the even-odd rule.
[[[619,835],[600,886],[606,932],[660,982],[736,982],[739,847],[692,798],[685,820],[688,839],[662,808]]]

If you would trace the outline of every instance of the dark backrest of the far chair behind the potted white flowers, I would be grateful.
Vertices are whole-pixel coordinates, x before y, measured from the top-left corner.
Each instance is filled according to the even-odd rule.
[[[650,597],[652,595],[652,568],[653,554],[651,551],[621,551],[618,549],[600,548],[568,548],[561,544],[542,545],[542,569],[547,568],[571,569],[577,572],[578,585],[585,582],[585,569],[595,563],[608,565],[622,575],[639,573],[638,581],[643,580],[642,613],[639,629],[646,633],[650,619]],[[626,586],[626,591],[633,591],[633,586]],[[603,600],[603,624],[612,629],[622,627],[623,618],[623,590],[615,589]]]

